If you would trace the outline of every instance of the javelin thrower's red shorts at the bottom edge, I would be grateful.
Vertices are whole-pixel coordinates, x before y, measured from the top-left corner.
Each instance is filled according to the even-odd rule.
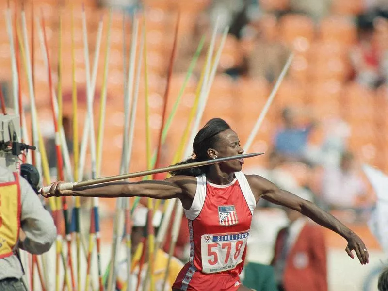
[[[240,277],[236,273],[205,274],[187,263],[180,270],[172,289],[181,291],[236,291],[240,286]]]

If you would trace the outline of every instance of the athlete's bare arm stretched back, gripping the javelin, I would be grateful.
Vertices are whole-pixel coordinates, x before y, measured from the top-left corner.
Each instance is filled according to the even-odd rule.
[[[111,182],[61,191],[60,182],[52,184],[50,196],[82,196],[82,197],[150,197],[155,199],[179,198],[183,207],[189,209],[196,190],[196,178],[192,176],[175,176],[165,180],[140,182]]]

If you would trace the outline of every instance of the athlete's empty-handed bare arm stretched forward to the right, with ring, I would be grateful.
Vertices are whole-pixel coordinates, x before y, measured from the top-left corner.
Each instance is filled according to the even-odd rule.
[[[353,259],[352,250],[355,250],[361,264],[369,262],[368,251],[364,242],[348,227],[314,203],[302,199],[288,191],[279,189],[275,184],[258,175],[246,175],[249,185],[255,195],[256,202],[263,198],[272,203],[285,206],[306,215],[316,223],[333,230],[348,242],[346,252]]]

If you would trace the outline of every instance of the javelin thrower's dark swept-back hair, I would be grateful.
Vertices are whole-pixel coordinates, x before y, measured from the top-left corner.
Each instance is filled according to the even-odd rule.
[[[224,119],[212,118],[205,126],[198,131],[193,142],[193,157],[187,159],[178,164],[185,164],[190,162],[201,162],[209,160],[208,149],[214,148],[216,143],[219,141],[218,134],[220,132],[230,129],[230,126]],[[208,167],[190,168],[186,170],[173,171],[170,174],[172,176],[186,175],[186,176],[199,176],[206,173]]]

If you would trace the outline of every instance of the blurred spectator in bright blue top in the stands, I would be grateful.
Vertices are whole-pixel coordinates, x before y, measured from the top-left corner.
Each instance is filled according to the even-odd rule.
[[[287,158],[305,159],[308,138],[315,128],[315,121],[310,121],[307,126],[298,125],[296,110],[290,107],[283,109],[282,119],[284,126],[275,135],[275,150]]]

